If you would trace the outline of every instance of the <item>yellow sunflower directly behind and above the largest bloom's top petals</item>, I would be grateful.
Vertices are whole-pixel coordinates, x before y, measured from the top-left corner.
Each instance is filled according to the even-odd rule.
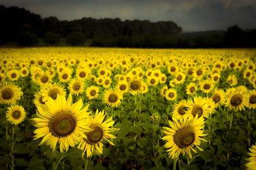
[[[49,99],[53,99],[54,101],[57,98],[57,94],[60,96],[66,96],[66,91],[64,87],[58,83],[47,84],[42,87],[42,96],[44,96],[43,101],[49,101]]]

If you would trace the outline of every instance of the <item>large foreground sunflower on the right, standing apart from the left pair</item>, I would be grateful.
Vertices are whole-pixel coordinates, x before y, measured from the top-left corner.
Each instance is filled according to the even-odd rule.
[[[172,159],[179,158],[180,153],[188,155],[192,158],[191,150],[197,153],[193,146],[196,146],[198,150],[202,151],[199,147],[202,136],[207,136],[202,130],[204,127],[204,118],[198,118],[197,115],[193,117],[182,117],[179,121],[173,118],[173,122],[169,120],[170,127],[164,128],[164,136],[162,139],[166,140],[164,148],[168,148],[168,157]]]

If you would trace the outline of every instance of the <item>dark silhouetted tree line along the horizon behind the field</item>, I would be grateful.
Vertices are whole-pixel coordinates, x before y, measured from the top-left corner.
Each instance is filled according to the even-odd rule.
[[[24,8],[0,6],[0,45],[118,46],[134,48],[256,47],[256,30],[182,32],[172,21],[42,18]]]

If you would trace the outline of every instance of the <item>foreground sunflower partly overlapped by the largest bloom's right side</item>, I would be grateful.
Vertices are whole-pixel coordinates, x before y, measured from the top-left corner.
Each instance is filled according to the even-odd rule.
[[[109,132],[119,131],[119,129],[111,128],[111,126],[115,124],[112,117],[103,122],[105,117],[106,113],[104,113],[104,111],[99,112],[99,110],[97,110],[94,117],[88,118],[88,127],[92,130],[84,133],[86,138],[83,138],[77,146],[77,148],[83,150],[83,157],[85,152],[86,157],[92,157],[93,151],[102,154],[102,141],[104,140],[108,141],[110,145],[114,145],[109,139],[116,138],[116,136],[113,136],[113,134]]]

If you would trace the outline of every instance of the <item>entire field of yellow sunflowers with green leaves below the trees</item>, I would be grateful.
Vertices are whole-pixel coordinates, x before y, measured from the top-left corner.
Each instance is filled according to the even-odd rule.
[[[256,169],[255,49],[0,48],[1,169]]]

